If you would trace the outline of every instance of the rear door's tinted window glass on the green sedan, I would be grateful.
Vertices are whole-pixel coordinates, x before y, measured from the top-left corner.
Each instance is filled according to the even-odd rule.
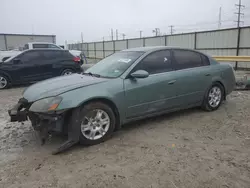
[[[189,50],[173,50],[177,70],[202,66],[201,55]]]

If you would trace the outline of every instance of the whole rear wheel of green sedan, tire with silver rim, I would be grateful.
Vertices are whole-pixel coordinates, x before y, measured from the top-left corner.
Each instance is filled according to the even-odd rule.
[[[208,89],[204,97],[202,109],[205,111],[217,110],[220,107],[222,101],[224,100],[224,93],[225,93],[224,87],[220,83],[214,83]],[[212,98],[214,99],[213,102]]]

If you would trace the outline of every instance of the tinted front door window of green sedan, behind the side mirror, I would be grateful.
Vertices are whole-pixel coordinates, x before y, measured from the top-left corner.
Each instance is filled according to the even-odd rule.
[[[172,70],[171,53],[169,50],[153,52],[146,56],[132,72],[145,70],[149,74],[169,72]]]

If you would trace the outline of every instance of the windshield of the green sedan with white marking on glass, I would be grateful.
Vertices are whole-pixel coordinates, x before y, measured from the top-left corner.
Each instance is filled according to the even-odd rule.
[[[121,76],[144,52],[122,51],[114,53],[94,66],[85,73],[100,75],[101,77],[116,78]]]

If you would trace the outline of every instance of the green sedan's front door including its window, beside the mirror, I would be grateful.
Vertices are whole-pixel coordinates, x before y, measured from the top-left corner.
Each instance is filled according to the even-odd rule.
[[[171,61],[170,50],[152,52],[131,71],[133,73],[137,70],[145,70],[149,76],[124,80],[127,119],[146,116],[173,107],[176,78]]]

